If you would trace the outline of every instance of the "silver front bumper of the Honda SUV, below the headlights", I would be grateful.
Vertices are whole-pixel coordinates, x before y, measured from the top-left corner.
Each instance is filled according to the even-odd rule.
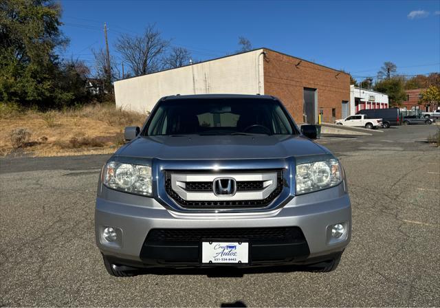
[[[102,190],[108,190],[102,195],[112,195],[109,198],[112,201],[102,197],[96,200],[96,243],[109,260],[126,265],[201,265],[197,258],[198,245],[174,245],[169,249],[166,245],[159,245],[161,247],[146,250],[146,238],[153,229],[297,227],[302,232],[305,245],[299,242],[255,245],[256,253],[252,259],[251,250],[250,265],[309,263],[342,252],[351,239],[351,203],[344,183],[296,196],[283,208],[270,212],[235,214],[183,215],[164,208],[153,198],[128,195],[105,187]],[[339,239],[331,237],[331,225],[335,223],[346,226]],[[109,226],[119,230],[118,243],[108,243],[102,238],[102,230]]]

